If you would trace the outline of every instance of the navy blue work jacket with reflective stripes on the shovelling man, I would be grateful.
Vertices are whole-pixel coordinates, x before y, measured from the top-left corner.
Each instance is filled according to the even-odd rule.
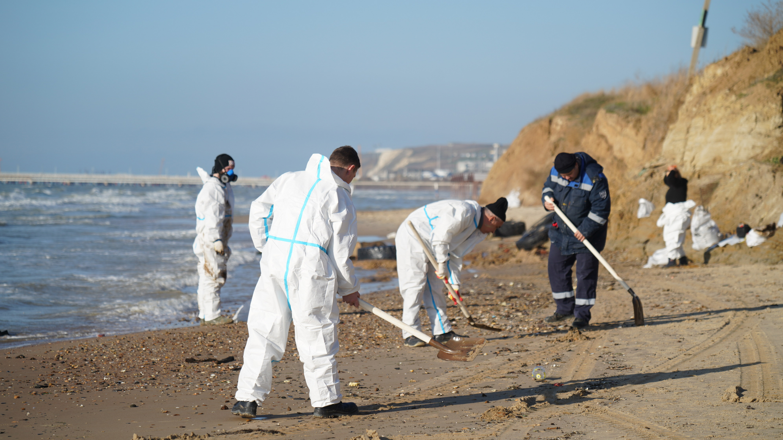
[[[545,196],[552,197],[561,211],[576,225],[579,232],[590,240],[598,251],[606,245],[606,224],[612,211],[609,184],[604,176],[604,167],[587,153],[576,153],[579,160],[579,179],[568,182],[552,167],[547,182],[543,184],[541,203]],[[549,229],[549,238],[561,254],[583,254],[590,252],[557,215],[557,227]]]

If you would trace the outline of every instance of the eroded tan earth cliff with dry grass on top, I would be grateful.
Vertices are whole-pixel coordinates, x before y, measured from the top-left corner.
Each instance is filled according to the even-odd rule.
[[[688,198],[704,204],[723,232],[754,227],[783,211],[783,32],[763,50],[744,48],[705,67],[612,93],[580,96],[533,121],[489,172],[482,203],[518,189],[523,205],[540,203],[543,181],[562,151],[585,151],[604,165],[612,191],[608,250],[644,259],[662,247],[655,219],[665,204],[666,164],[689,179]],[[640,197],[656,210],[636,218]],[[761,247],[743,244],[713,261],[780,261],[783,233]],[[687,251],[694,259],[700,256]]]

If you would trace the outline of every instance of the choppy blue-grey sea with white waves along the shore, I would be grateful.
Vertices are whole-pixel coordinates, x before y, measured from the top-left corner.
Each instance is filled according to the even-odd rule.
[[[200,186],[0,184],[0,347],[197,325],[194,205]],[[235,186],[235,216],[264,188]],[[419,207],[449,193],[355,189],[358,210]],[[234,223],[226,314],[247,302],[261,255]],[[372,272],[357,271],[357,276]],[[363,284],[363,293],[396,287]]]

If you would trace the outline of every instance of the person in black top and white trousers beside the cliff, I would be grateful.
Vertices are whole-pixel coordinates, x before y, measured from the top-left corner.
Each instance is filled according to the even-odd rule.
[[[666,205],[656,225],[663,227],[663,241],[666,243],[666,257],[669,262],[664,267],[687,265],[685,256],[685,231],[691,226],[691,207],[696,204],[687,200],[687,179],[680,175],[677,165],[669,165],[663,182],[669,186],[666,191]]]

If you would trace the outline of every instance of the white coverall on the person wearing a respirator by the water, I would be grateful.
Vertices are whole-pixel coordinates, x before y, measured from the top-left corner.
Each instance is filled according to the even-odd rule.
[[[198,316],[205,321],[220,316],[220,288],[226,283],[226,263],[231,256],[229,238],[233,233],[234,191],[230,183],[211,176],[196,199],[196,240],[193,253],[198,257]],[[222,240],[224,254],[215,252],[215,241]]]

